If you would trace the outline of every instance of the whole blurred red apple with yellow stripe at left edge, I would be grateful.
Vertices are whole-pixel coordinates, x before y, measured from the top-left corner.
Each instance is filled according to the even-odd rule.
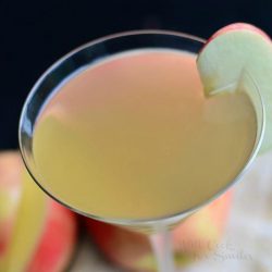
[[[0,153],[0,271],[60,272],[76,244],[75,214],[30,180],[17,151]]]

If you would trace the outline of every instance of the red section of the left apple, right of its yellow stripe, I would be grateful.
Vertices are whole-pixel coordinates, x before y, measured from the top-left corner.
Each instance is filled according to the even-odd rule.
[[[58,202],[49,201],[49,212],[27,272],[63,271],[76,245],[76,215]]]

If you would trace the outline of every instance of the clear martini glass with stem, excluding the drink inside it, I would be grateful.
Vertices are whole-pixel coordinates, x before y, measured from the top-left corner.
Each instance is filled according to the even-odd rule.
[[[187,34],[165,30],[127,32],[88,42],[64,55],[41,75],[41,77],[34,85],[25,101],[20,120],[18,140],[21,153],[26,169],[37,185],[54,200],[59,201],[71,210],[74,210],[75,212],[107,223],[129,227],[136,232],[144,232],[149,235],[153,252],[158,260],[158,270],[160,272],[173,272],[175,270],[171,245],[171,234],[169,230],[182,220],[186,219],[188,215],[199,210],[202,206],[214,200],[217,197],[227,190],[230,186],[239,181],[258,153],[263,137],[265,116],[258,85],[255,83],[252,76],[245,72],[243,77],[246,77],[246,79],[244,78],[240,81],[237,86],[239,91],[245,91],[250,98],[256,110],[258,124],[255,146],[246,163],[244,164],[240,172],[235,176],[235,178],[230,181],[226,186],[222,187],[221,190],[214,194],[211,198],[196,207],[187,210],[181,210],[178,213],[169,217],[143,220],[103,218],[91,214],[91,211],[86,213],[85,211],[73,207],[71,203],[59,199],[58,196],[52,194],[39,181],[38,169],[35,163],[35,157],[33,152],[34,132],[38,116],[44,111],[44,106],[53,97],[53,91],[55,88],[61,83],[63,83],[63,81],[71,77],[71,75],[77,73],[84,67],[101,59],[109,58],[116,53],[128,50],[170,49],[182,50],[197,54],[203,47],[203,44],[205,40],[201,38]]]

